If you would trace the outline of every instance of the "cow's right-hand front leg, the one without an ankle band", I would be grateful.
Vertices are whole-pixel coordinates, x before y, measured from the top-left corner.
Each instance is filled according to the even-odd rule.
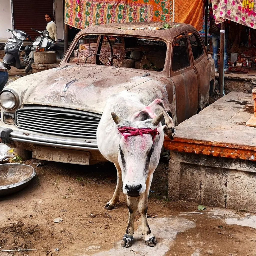
[[[146,180],[146,191],[139,198],[139,212],[141,214],[142,221],[142,234],[144,236],[144,241],[148,246],[155,246],[157,244],[157,240],[155,236],[151,233],[150,227],[147,222],[147,202],[148,202],[148,193],[150,190],[151,182],[153,178],[153,173],[150,174]]]

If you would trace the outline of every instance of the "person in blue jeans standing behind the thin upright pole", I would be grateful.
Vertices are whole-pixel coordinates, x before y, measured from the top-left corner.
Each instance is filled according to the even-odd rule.
[[[211,32],[211,40],[212,40],[212,58],[214,59],[215,64],[215,73],[219,73],[218,68],[218,47],[220,42],[220,24],[216,25],[215,19],[213,16],[212,8],[210,7],[210,28],[209,32]],[[225,29],[225,46],[224,46],[224,73],[228,74],[231,73],[228,70],[228,52],[227,52],[227,45],[228,45],[228,27]]]

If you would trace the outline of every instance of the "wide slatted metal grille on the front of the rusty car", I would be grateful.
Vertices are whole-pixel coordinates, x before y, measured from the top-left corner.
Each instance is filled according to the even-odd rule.
[[[15,125],[29,131],[96,139],[100,114],[54,107],[24,107],[16,111]]]

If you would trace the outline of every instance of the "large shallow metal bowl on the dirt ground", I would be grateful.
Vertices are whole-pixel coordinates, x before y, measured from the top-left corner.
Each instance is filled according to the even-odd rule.
[[[35,169],[30,165],[0,164],[0,196],[23,189],[35,175]]]

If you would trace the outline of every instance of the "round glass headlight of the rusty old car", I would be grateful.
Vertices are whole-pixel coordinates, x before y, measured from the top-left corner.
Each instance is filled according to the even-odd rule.
[[[0,105],[6,110],[13,110],[19,105],[19,96],[12,89],[6,89],[0,93]]]

